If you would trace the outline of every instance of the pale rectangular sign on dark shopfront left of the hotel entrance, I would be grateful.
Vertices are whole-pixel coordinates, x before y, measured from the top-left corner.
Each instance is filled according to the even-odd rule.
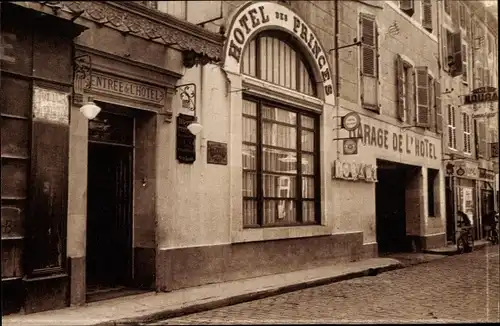
[[[69,99],[67,93],[34,86],[33,119],[52,123],[69,123]]]

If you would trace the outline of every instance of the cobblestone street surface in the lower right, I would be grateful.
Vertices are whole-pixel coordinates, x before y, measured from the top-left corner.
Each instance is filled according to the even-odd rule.
[[[152,325],[499,322],[499,247]]]

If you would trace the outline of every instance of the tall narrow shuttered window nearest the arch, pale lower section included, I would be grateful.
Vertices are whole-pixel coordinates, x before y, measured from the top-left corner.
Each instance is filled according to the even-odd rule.
[[[375,17],[360,14],[361,103],[363,108],[379,112],[378,106],[378,33]]]

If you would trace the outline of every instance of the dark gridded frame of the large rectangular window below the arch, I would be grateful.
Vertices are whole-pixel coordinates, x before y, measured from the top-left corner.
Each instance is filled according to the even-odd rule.
[[[251,200],[256,201],[257,209],[256,209],[256,218],[257,224],[245,224],[244,212],[242,212],[243,221],[242,227],[243,229],[255,229],[255,228],[273,228],[273,227],[292,227],[292,226],[305,226],[305,225],[320,225],[321,224],[321,153],[320,153],[320,115],[315,114],[313,112],[309,112],[303,109],[296,108],[294,106],[280,103],[277,101],[269,100],[266,98],[262,98],[256,95],[251,95],[248,93],[243,93],[242,97],[243,101],[250,101],[256,103],[256,115],[249,116],[246,114],[242,114],[242,118],[252,118],[256,121],[256,143],[250,143],[244,141],[242,138],[242,145],[250,145],[255,146],[255,183],[257,185],[255,197],[244,196],[244,192],[242,191],[242,201]],[[297,121],[295,124],[296,128],[296,149],[295,151],[290,150],[290,148],[281,148],[273,145],[264,145],[262,130],[264,125],[264,118],[262,116],[262,107],[263,106],[271,106],[281,110],[285,110],[288,112],[293,112],[297,114]],[[308,118],[312,118],[314,120],[314,129],[305,128],[301,126],[301,117],[306,116]],[[272,123],[276,123],[276,121],[272,121]],[[280,124],[278,122],[278,124]],[[301,149],[302,144],[302,130],[313,130],[314,132],[314,147],[313,152],[304,152]],[[243,132],[243,128],[242,128]],[[264,201],[266,199],[269,200],[280,200],[279,197],[265,197],[264,196],[264,174],[266,172],[263,169],[263,148],[272,147],[278,150],[286,150],[289,152],[296,153],[296,162],[297,162],[297,173],[295,174],[296,178],[296,189],[295,189],[295,199],[293,201],[296,202],[295,213],[296,213],[296,222],[295,223],[275,223],[275,224],[264,224]],[[313,155],[314,157],[314,166],[313,166],[313,175],[306,174],[304,175],[302,172],[302,166],[299,162],[302,162],[302,155]],[[243,177],[243,166],[242,166],[242,177]],[[280,174],[280,173],[272,173],[272,174]],[[314,179],[314,198],[313,199],[304,199],[303,198],[303,177],[312,177]],[[243,186],[243,184],[242,184]],[[243,190],[243,189],[242,189]],[[303,222],[303,203],[304,202],[313,202],[314,203],[314,221],[313,222]],[[244,205],[243,205],[243,209]]]

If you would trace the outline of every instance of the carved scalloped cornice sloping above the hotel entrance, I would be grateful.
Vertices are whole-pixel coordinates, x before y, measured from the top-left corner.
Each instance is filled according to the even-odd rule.
[[[124,34],[167,46],[177,45],[182,51],[194,51],[206,57],[207,61],[219,62],[222,59],[223,35],[132,1],[22,1],[16,4],[35,10],[49,7],[56,15],[63,11]]]

